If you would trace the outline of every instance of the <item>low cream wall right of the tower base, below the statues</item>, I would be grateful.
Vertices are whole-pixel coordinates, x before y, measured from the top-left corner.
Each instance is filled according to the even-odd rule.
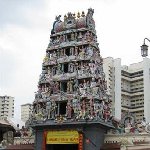
[[[150,134],[148,133],[128,133],[128,134],[106,134],[104,143],[110,145],[119,145],[120,150],[149,150],[150,149]],[[108,149],[110,150],[110,149]]]

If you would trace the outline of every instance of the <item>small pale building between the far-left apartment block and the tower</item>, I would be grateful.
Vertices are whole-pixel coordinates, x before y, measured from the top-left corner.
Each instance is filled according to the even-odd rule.
[[[32,104],[27,103],[21,105],[21,120],[23,122],[26,122],[29,119],[31,111],[32,111]]]

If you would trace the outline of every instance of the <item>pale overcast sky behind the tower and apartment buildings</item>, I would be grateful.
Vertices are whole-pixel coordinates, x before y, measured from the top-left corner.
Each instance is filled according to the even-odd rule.
[[[140,46],[150,38],[149,6],[149,0],[0,0],[0,95],[15,97],[15,117],[34,100],[56,15],[92,7],[102,57],[128,65],[142,60]]]

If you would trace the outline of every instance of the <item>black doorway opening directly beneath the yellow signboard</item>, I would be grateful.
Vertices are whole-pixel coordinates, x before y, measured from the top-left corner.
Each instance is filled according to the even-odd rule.
[[[78,144],[47,144],[46,150],[78,150]]]

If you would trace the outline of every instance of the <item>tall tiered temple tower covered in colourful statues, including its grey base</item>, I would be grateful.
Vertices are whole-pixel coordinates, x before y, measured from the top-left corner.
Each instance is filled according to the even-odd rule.
[[[93,13],[53,23],[33,102],[36,150],[100,150],[113,128]]]

